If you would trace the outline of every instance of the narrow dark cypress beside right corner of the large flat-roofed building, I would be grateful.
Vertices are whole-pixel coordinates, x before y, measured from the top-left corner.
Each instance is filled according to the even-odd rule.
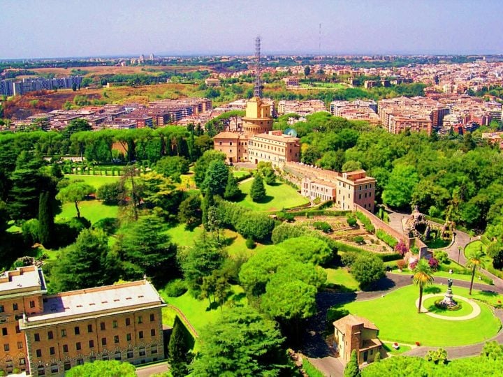
[[[184,377],[189,374],[189,364],[194,358],[192,348],[194,348],[194,337],[176,316],[168,343],[168,362],[173,377]]]

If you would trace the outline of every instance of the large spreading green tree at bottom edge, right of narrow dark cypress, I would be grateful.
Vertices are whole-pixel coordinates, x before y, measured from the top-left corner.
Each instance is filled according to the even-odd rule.
[[[235,307],[201,332],[194,376],[278,376],[283,339],[275,323],[250,307]]]

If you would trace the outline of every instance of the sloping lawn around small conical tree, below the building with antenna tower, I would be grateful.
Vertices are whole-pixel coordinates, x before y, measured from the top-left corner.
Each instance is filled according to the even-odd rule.
[[[299,205],[305,205],[309,202],[309,200],[300,195],[295,188],[287,184],[275,183],[272,186],[269,186],[268,184],[264,185],[267,196],[263,202],[256,203],[251,200],[248,195],[252,183],[253,179],[249,179],[240,184],[241,191],[243,194],[246,194],[246,196],[240,200],[239,204],[249,209],[253,209],[254,211],[280,211],[283,208],[298,207]]]

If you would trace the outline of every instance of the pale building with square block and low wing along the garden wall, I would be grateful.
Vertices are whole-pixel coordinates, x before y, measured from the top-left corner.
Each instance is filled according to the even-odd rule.
[[[376,179],[365,170],[334,172],[300,163],[288,163],[286,170],[301,178],[300,193],[314,200],[332,200],[340,209],[353,211],[355,204],[374,212]]]

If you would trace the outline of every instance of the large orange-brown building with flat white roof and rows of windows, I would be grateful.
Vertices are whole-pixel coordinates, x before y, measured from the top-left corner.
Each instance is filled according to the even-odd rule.
[[[0,370],[64,376],[95,360],[143,364],[164,358],[161,309],[148,281],[47,295],[41,269],[0,276]]]

